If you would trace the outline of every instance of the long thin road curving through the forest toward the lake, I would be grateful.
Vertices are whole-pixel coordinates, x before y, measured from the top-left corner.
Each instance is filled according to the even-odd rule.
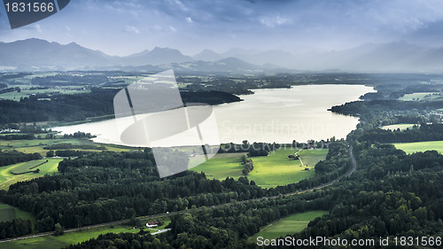
[[[357,162],[354,158],[354,153],[353,153],[353,146],[351,145],[349,147],[349,157],[351,159],[351,163],[353,165],[353,167],[351,168],[351,170],[345,174],[345,175],[341,175],[340,177],[338,177],[337,179],[330,181],[329,183],[323,183],[321,185],[312,187],[310,189],[307,190],[303,190],[303,191],[294,191],[291,193],[286,193],[283,196],[292,196],[292,195],[298,195],[298,194],[302,194],[302,193],[306,193],[309,191],[315,191],[315,190],[319,190],[319,189],[323,189],[324,187],[328,187],[334,183],[338,183],[338,181],[340,181],[343,177],[348,177],[349,175],[352,175],[355,171],[355,169],[357,168]],[[198,211],[201,210],[203,208],[220,208],[221,206],[232,206],[232,205],[237,205],[240,203],[245,203],[245,202],[256,202],[256,201],[262,201],[262,200],[266,200],[269,198],[279,198],[282,195],[276,195],[276,196],[271,196],[271,197],[264,197],[264,198],[253,198],[253,199],[246,199],[246,200],[242,200],[242,201],[237,201],[237,202],[231,202],[231,203],[225,203],[225,204],[220,204],[220,205],[214,205],[214,206],[200,206],[198,208],[194,208],[194,209],[188,209],[188,210],[181,210],[181,211],[176,211],[176,212],[168,212],[166,214],[153,214],[153,215],[145,215],[145,216],[140,216],[138,217],[140,220],[150,220],[150,219],[155,219],[155,218],[159,218],[159,217],[165,217],[165,216],[171,216],[171,215],[175,215],[175,214],[184,214],[184,213],[188,213],[191,211]],[[106,222],[106,223],[100,223],[100,224],[96,224],[96,225],[90,225],[90,226],[85,226],[85,227],[81,227],[81,228],[74,228],[74,229],[68,229],[68,230],[64,230],[65,233],[67,232],[74,232],[74,231],[78,231],[78,230],[87,230],[87,229],[91,229],[91,228],[98,228],[98,227],[105,227],[108,225],[116,225],[116,224],[121,224],[121,223],[125,223],[125,222],[129,222],[129,220],[122,220],[122,221],[117,221],[117,222]],[[45,233],[39,233],[39,234],[35,234],[35,235],[28,235],[28,236],[23,236],[23,237],[13,237],[13,238],[8,238],[8,239],[4,239],[4,240],[0,240],[0,243],[4,243],[4,242],[8,242],[8,241],[14,241],[14,240],[21,240],[21,239],[27,239],[27,238],[32,238],[32,237],[43,237],[43,236],[50,236],[52,235],[53,232],[45,232]]]

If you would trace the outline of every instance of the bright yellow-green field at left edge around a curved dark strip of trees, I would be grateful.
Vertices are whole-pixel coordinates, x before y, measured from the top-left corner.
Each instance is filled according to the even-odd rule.
[[[27,181],[34,179],[36,177],[42,177],[46,174],[55,174],[58,172],[58,163],[63,159],[48,159],[48,162],[43,164],[42,166],[35,167],[40,169],[39,173],[27,173],[23,175],[12,175],[12,170],[15,170],[23,165],[27,164],[27,162],[21,162],[18,164],[13,164],[10,166],[0,167],[0,190],[8,190],[9,186],[13,183],[18,183],[21,181]]]

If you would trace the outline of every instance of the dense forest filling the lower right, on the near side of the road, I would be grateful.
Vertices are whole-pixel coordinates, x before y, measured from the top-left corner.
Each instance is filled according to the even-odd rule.
[[[443,155],[407,155],[389,144],[349,142],[354,144],[358,170],[323,191],[178,214],[170,224],[171,232],[161,236],[108,234],[69,248],[255,248],[257,244],[246,239],[261,226],[312,209],[327,209],[330,214],[316,218],[306,230],[291,236],[373,239],[371,248],[399,248],[400,237],[427,237],[427,242],[435,242],[443,236],[443,193],[439,191],[443,189]],[[379,245],[379,237],[388,237],[389,245]],[[420,243],[424,242],[412,247],[426,247]],[[275,247],[286,248],[281,245]]]

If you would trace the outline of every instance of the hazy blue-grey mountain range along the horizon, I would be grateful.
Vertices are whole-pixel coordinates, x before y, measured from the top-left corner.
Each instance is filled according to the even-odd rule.
[[[152,51],[118,57],[77,43],[50,43],[40,39],[0,43],[1,71],[128,70],[179,72],[399,72],[442,73],[443,47],[428,48],[406,42],[366,43],[343,51],[253,51],[224,53],[204,50],[194,56],[156,47]]]

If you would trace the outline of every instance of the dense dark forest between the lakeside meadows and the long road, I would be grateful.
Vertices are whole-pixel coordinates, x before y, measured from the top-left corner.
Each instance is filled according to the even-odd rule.
[[[340,156],[343,153],[346,154],[344,141],[332,143],[328,159],[316,166],[314,178],[265,190],[246,177],[218,181],[189,171],[160,179],[150,149],[120,153],[60,150],[55,154],[78,156],[59,163],[60,175],[15,183],[9,191],[0,191],[0,199],[35,214],[37,231],[54,230],[56,223],[65,228],[82,227],[133,215],[161,214],[305,190],[345,173],[350,163]]]

